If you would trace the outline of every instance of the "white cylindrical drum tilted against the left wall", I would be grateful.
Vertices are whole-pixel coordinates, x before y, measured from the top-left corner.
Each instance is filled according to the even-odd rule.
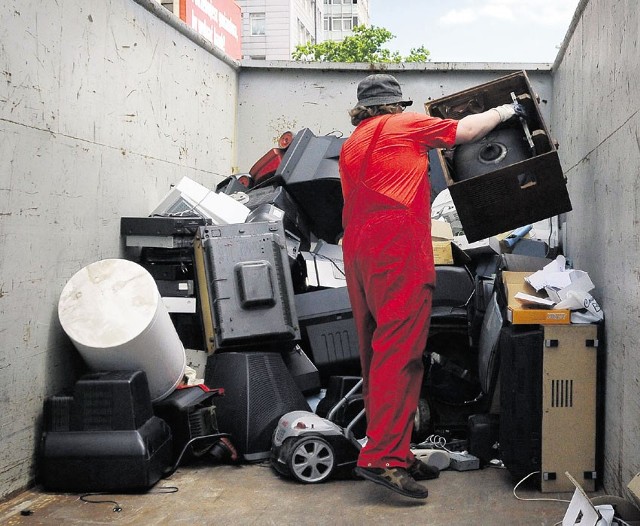
[[[184,346],[156,282],[137,263],[104,259],[78,271],[62,290],[58,316],[92,370],[144,371],[152,401],[182,380]]]

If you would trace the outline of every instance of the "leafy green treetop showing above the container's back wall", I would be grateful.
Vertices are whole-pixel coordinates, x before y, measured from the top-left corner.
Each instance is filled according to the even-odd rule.
[[[397,51],[383,47],[395,35],[376,26],[356,26],[353,35],[341,42],[325,40],[318,44],[299,44],[291,53],[293,60],[309,62],[428,62],[429,50],[424,46],[412,48],[402,57]]]

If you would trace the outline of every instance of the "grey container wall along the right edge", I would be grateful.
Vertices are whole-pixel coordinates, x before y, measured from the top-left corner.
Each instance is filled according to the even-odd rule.
[[[640,472],[639,27],[635,1],[583,0],[554,68],[552,125],[574,205],[565,252],[605,313],[604,481],[615,494]]]

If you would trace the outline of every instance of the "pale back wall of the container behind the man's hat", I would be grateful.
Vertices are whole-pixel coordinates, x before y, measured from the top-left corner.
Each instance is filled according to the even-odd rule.
[[[404,64],[388,65],[414,101],[407,111],[425,113],[424,104],[520,70],[527,71],[550,120],[550,68],[541,64]],[[348,111],[356,102],[356,87],[372,73],[363,64],[302,64],[243,62],[238,94],[238,168],[247,172],[285,131],[309,128],[316,135],[348,137],[353,131]],[[551,130],[553,132],[553,130]]]

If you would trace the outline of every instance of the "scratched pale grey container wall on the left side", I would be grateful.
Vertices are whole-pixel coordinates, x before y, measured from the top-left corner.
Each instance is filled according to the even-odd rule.
[[[182,176],[231,173],[236,82],[233,64],[131,0],[4,2],[0,497],[32,481],[43,400],[78,370],[63,286],[122,254],[121,216],[147,215]]]

